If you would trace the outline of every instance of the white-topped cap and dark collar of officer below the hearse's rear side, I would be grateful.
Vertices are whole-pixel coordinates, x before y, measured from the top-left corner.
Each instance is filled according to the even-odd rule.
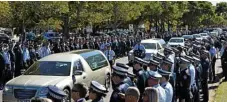
[[[90,90],[94,91],[95,93],[99,93],[102,96],[96,96],[96,99],[92,100],[91,102],[104,102],[103,97],[106,95],[107,91],[104,85],[98,83],[97,81],[91,81]]]

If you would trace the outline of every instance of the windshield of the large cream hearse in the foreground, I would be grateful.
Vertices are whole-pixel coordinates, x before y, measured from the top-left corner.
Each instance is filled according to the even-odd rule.
[[[69,76],[71,62],[38,61],[24,75]]]

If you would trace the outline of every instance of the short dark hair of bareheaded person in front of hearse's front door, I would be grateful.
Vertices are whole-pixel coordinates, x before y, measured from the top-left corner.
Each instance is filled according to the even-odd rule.
[[[77,83],[73,86],[72,89],[73,92],[79,92],[79,95],[81,98],[86,97],[87,92],[88,92],[88,87],[84,83]]]

